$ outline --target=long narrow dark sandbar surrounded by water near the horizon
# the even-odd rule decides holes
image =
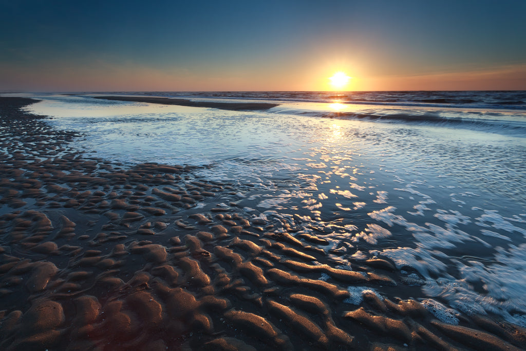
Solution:
[[[262,111],[278,104],[270,103],[217,103],[217,102],[203,102],[190,101],[187,99],[173,99],[168,97],[143,97],[143,96],[94,96],[97,99],[115,100],[115,101],[130,101],[137,103],[163,104],[163,105],[179,105],[190,107],[208,107],[228,109],[231,111]]]

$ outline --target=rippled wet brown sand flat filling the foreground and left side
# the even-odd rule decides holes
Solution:
[[[81,135],[20,110],[33,102],[0,98],[0,349],[526,345],[525,329],[497,318],[450,325],[416,300],[378,297],[418,287],[386,259],[333,267],[325,239],[223,204],[236,189],[197,167],[87,157],[69,145]]]

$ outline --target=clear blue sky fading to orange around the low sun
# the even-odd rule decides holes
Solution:
[[[525,0],[0,0],[0,92],[526,89]]]

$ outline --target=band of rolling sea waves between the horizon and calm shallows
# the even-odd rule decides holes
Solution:
[[[101,94],[101,93],[99,93]],[[113,92],[113,95],[163,96],[214,102],[267,101],[280,104],[270,113],[411,123],[466,128],[485,133],[526,137],[526,92]],[[301,103],[355,104],[356,112]],[[300,104],[290,104],[299,102]],[[368,106],[365,106],[368,105]],[[377,107],[373,107],[377,106]],[[406,108],[407,107],[407,108]],[[415,108],[417,107],[417,108]],[[422,108],[419,108],[422,107]],[[351,107],[352,108],[352,107]],[[432,110],[430,109],[432,108]],[[486,111],[483,110],[486,109]],[[398,112],[396,110],[399,110]],[[504,110],[504,111],[501,111]],[[506,112],[511,110],[513,112]]]

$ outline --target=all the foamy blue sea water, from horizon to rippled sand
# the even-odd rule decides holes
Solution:
[[[391,259],[406,288],[375,294],[419,298],[449,323],[477,313],[526,326],[526,93],[135,94],[279,106],[47,94],[29,109],[82,132],[77,147],[96,157],[206,166],[196,176],[230,183],[247,214],[327,239],[334,266]]]

